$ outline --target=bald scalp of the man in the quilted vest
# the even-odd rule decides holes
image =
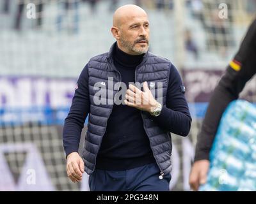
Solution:
[[[113,26],[120,27],[122,24],[127,22],[129,18],[146,16],[147,13],[140,6],[134,4],[127,4],[119,7],[113,15]]]

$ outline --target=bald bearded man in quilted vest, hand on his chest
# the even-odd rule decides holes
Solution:
[[[86,171],[91,191],[169,191],[171,132],[186,136],[191,125],[185,87],[168,59],[148,52],[142,8],[118,8],[111,33],[116,42],[84,67],[65,119],[67,175],[79,182]]]

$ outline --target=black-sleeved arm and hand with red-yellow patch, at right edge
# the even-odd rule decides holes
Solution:
[[[225,74],[214,89],[196,142],[195,161],[189,184],[194,191],[207,181],[209,152],[214,142],[222,113],[227,105],[239,97],[244,85],[256,73],[256,20],[248,29],[241,46]]]

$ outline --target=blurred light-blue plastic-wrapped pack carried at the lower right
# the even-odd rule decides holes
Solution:
[[[232,101],[221,117],[199,191],[256,191],[256,106]]]

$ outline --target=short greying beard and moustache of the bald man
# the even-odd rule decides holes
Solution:
[[[136,44],[141,40],[147,41],[147,45],[145,47],[139,47],[139,48],[135,47]],[[121,37],[120,38],[120,43],[122,44],[123,47],[126,47],[128,50],[131,50],[131,51],[135,52],[138,55],[145,54],[146,52],[148,52],[148,40],[146,38],[139,38],[138,40],[131,43],[130,41]]]

